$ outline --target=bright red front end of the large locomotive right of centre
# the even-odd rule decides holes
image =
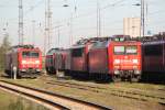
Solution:
[[[113,79],[141,79],[141,43],[124,42],[113,46]]]

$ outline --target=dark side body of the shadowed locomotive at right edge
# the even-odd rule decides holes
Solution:
[[[164,64],[164,44],[144,44],[143,45],[143,70],[148,73],[165,70]]]

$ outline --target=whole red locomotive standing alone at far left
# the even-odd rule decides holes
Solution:
[[[42,72],[42,53],[33,45],[16,45],[6,54],[4,70],[13,76],[13,67],[20,77],[37,77]]]

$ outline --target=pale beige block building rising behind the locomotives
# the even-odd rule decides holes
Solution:
[[[141,19],[140,18],[124,18],[123,19],[123,34],[131,37],[141,36]]]

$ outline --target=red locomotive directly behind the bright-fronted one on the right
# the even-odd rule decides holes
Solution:
[[[70,48],[70,72],[74,76],[88,78],[89,52],[97,41],[105,41],[108,37],[92,37],[78,41]],[[76,75],[75,75],[76,74]]]

